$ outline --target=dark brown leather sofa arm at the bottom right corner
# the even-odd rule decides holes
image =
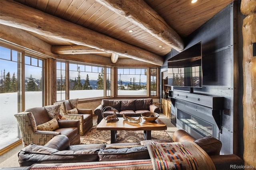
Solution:
[[[210,156],[216,170],[239,169],[243,170],[244,161],[235,154]]]

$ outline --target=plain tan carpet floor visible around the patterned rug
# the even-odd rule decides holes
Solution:
[[[166,117],[164,114],[160,113],[159,119],[164,122],[167,126],[166,132],[172,137],[173,133],[177,130],[177,128],[172,125],[170,119]],[[97,117],[93,117],[93,123],[96,124]],[[18,152],[22,149],[22,144],[17,147],[9,150],[0,156],[0,168],[8,168],[8,167],[17,167],[20,166],[18,163]]]

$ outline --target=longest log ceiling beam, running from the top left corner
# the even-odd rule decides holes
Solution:
[[[72,24],[14,1],[0,0],[0,24],[116,53],[139,61],[163,65],[164,59],[144,49]]]

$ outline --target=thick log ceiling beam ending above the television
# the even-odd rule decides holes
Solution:
[[[139,26],[177,51],[184,49],[182,38],[144,0],[96,0]],[[171,16],[170,16],[171,17]]]

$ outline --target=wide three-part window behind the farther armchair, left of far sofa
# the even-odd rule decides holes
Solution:
[[[112,95],[110,67],[57,61],[56,68],[57,101],[66,99],[66,96],[69,96],[69,99],[86,99]],[[66,75],[69,79],[66,79]],[[69,95],[66,95],[67,87]]]

